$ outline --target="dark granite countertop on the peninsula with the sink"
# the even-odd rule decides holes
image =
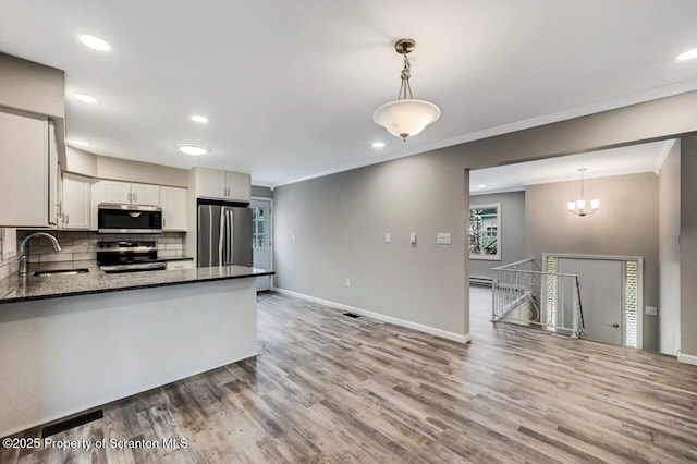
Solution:
[[[29,277],[28,279],[19,279],[14,274],[0,280],[0,304],[216,280],[245,279],[276,273],[245,266],[220,266],[107,274],[94,265],[81,266],[80,264],[81,261],[75,261],[72,267],[75,269],[88,268],[89,272],[75,276]],[[64,264],[61,268],[69,269],[71,266]]]

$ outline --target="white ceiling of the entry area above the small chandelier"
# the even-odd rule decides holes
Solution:
[[[590,151],[537,161],[476,169],[469,172],[469,193],[481,195],[525,190],[526,185],[578,181],[579,168],[586,179],[636,174],[660,170],[675,141]]]

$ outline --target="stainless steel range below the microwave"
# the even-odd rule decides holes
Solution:
[[[157,257],[157,242],[99,242],[97,264],[106,273],[164,270]]]

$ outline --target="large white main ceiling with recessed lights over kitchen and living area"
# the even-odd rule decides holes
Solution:
[[[695,0],[0,0],[0,51],[65,70],[68,136],[90,151],[279,185],[697,89],[697,60],[674,60],[695,17]],[[405,143],[371,119],[401,37],[414,97],[442,109]]]

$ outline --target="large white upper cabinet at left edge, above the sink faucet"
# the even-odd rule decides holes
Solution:
[[[48,120],[0,112],[0,227],[56,227],[49,138]]]

